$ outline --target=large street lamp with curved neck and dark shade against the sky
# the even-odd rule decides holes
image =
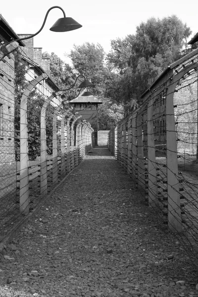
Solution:
[[[23,37],[23,38],[18,38],[18,39],[15,39],[15,40],[11,40],[10,42],[6,43],[5,45],[4,45],[4,43],[1,43],[0,59],[2,59],[4,56],[8,55],[9,53],[14,51],[15,49],[18,49],[18,47],[19,47],[18,42],[19,41],[30,39],[30,38],[36,36],[37,34],[39,34],[41,32],[41,30],[43,29],[45,23],[46,23],[49,11],[51,9],[53,9],[53,8],[59,8],[60,10],[62,10],[64,17],[59,18],[53,24],[53,26],[49,29],[50,31],[53,31],[53,32],[66,32],[66,31],[76,30],[76,29],[79,29],[79,28],[82,27],[82,25],[79,24],[77,21],[75,21],[72,17],[66,17],[64,10],[60,6],[52,6],[52,7],[50,7],[48,9],[48,11],[46,13],[46,16],[45,16],[45,19],[44,19],[44,22],[43,22],[43,25],[41,26],[41,29],[37,33],[32,34],[32,35],[30,35],[28,37]]]

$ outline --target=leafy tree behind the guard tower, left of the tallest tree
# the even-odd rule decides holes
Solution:
[[[88,42],[82,46],[74,45],[69,57],[74,71],[91,80],[95,85],[92,89],[94,95],[103,102],[98,109],[99,129],[111,129],[123,117],[123,109],[120,103],[117,104],[120,87],[118,74],[106,61],[103,48]]]

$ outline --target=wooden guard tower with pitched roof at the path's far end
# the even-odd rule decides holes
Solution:
[[[91,92],[90,92],[91,93]],[[85,93],[84,93],[85,94]],[[78,96],[76,99],[69,101],[73,105],[74,111],[78,111],[82,117],[88,121],[94,129],[94,144],[98,145],[98,106],[102,101],[97,99],[94,95]],[[93,144],[93,145],[94,145]]]

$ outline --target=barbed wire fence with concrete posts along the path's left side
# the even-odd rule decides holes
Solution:
[[[48,75],[28,75],[17,106],[14,56],[0,61],[0,241],[92,147],[90,123],[49,90]]]

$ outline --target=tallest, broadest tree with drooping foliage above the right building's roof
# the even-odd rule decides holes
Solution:
[[[132,111],[134,102],[140,103],[140,96],[157,76],[184,54],[190,34],[190,28],[172,15],[150,18],[137,27],[135,35],[111,41],[107,58],[119,73],[126,113]]]

